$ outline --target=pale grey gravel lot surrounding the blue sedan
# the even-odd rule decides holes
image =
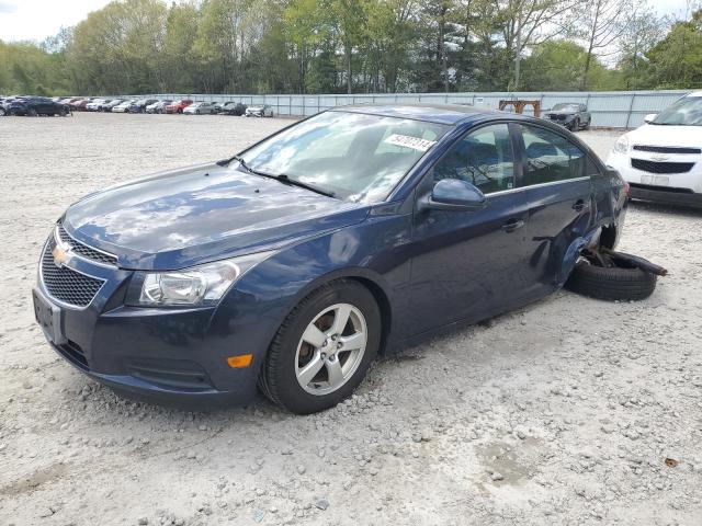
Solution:
[[[557,293],[378,363],[324,414],[126,402],[49,350],[30,290],[66,206],[285,124],[0,118],[0,525],[701,524],[698,213],[630,207],[621,248],[670,268],[648,300]],[[618,134],[580,135],[605,155]]]

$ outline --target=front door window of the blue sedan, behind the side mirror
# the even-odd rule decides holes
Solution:
[[[507,124],[479,128],[453,145],[433,168],[434,181],[462,179],[485,194],[514,187],[514,155]]]

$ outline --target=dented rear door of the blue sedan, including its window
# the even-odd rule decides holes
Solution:
[[[565,135],[539,125],[519,125],[525,197],[529,202],[529,272],[534,297],[553,289],[574,241],[591,222],[592,185],[587,155]]]

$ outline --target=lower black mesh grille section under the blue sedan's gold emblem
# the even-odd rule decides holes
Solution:
[[[105,282],[66,266],[57,266],[52,255],[53,248],[54,243],[46,243],[42,254],[42,282],[46,291],[64,304],[87,307]]]

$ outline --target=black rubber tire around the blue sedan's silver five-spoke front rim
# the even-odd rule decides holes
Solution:
[[[297,345],[312,320],[325,308],[339,302],[350,304],[363,313],[367,330],[365,353],[346,384],[327,395],[313,395],[302,388],[295,376]],[[381,324],[377,302],[360,283],[339,279],[316,289],[293,309],[278,330],[261,368],[259,388],[273,403],[297,414],[316,413],[336,405],[351,396],[375,359],[381,344]]]

